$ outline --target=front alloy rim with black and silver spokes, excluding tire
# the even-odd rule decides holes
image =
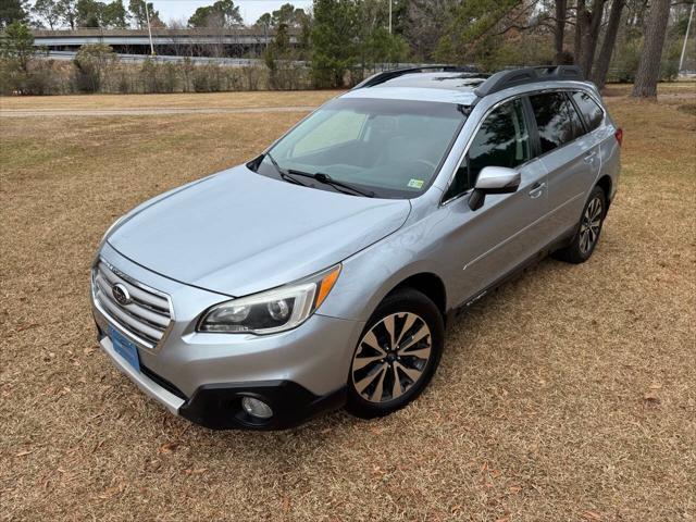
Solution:
[[[357,393],[375,403],[398,399],[423,375],[432,353],[427,323],[415,313],[399,312],[377,322],[362,337],[351,376]]]

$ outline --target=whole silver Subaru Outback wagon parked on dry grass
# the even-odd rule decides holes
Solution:
[[[592,256],[621,140],[575,67],[377,74],[116,221],[99,343],[212,428],[385,415],[431,381],[455,311],[545,253]]]

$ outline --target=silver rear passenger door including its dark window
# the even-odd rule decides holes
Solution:
[[[574,104],[564,91],[530,95],[538,130],[540,159],[548,171],[549,240],[574,227],[588,190],[597,177],[597,142],[585,132]]]

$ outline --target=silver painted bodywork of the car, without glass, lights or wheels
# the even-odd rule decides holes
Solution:
[[[513,194],[487,196],[476,211],[468,206],[469,191],[445,201],[482,120],[501,102],[543,90],[591,94],[605,110],[602,125],[521,165]],[[600,177],[611,178],[610,199],[616,192],[617,127],[592,84],[545,82],[482,99],[471,91],[388,86],[343,96],[476,103],[436,178],[413,199],[299,187],[240,165],[134,209],[100,247],[107,262],[170,296],[175,319],[165,339],[139,353],[148,369],[185,394],[207,383],[272,380],[328,394],[345,385],[365,322],[405,279],[436,276],[446,290],[446,309],[455,309],[573,234]],[[331,294],[295,330],[265,336],[196,332],[201,314],[231,296],[288,284],[339,262]],[[109,320],[94,311],[105,327]],[[104,350],[113,358],[108,346]],[[145,382],[138,385],[157,396],[157,386],[139,378]],[[160,398],[172,409],[170,399]]]

